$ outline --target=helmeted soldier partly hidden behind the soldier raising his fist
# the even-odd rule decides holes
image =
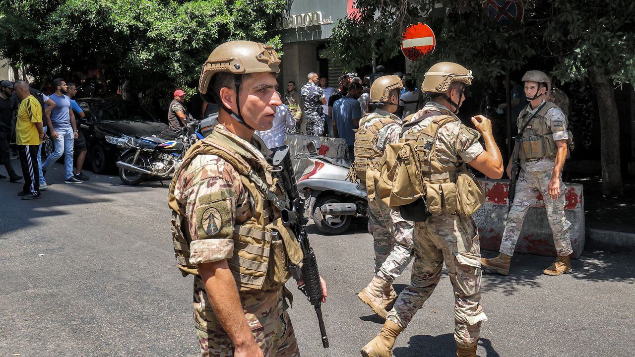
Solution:
[[[377,164],[386,145],[399,142],[401,134],[401,118],[392,114],[399,109],[401,87],[398,76],[382,76],[373,82],[370,105],[376,109],[359,122],[351,166],[352,178],[368,192],[368,231],[375,248],[375,275],[358,297],[384,319],[397,298],[392,281],[408,266],[412,251],[412,222],[375,196]]]

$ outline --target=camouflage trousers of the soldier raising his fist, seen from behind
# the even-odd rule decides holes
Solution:
[[[478,343],[481,321],[487,316],[481,307],[481,246],[474,220],[458,215],[431,217],[415,222],[415,262],[410,285],[388,313],[387,320],[405,328],[441,278],[445,261],[454,290],[454,339],[457,346]]]

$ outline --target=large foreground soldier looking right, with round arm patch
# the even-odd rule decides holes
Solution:
[[[231,41],[212,51],[199,91],[217,102],[218,119],[170,185],[175,254],[182,274],[194,274],[203,357],[300,356],[284,283],[302,250],[280,223],[284,193],[266,160],[271,152],[254,135],[271,128],[281,103],[279,64],[262,43]]]

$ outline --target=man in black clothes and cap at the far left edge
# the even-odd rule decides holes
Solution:
[[[0,158],[11,182],[18,182],[22,179],[22,176],[15,173],[13,166],[11,166],[11,149],[9,148],[13,116],[17,109],[18,101],[13,95],[13,83],[10,81],[0,82]],[[6,176],[0,174],[0,179],[6,179]]]

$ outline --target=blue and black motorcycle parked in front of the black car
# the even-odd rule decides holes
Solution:
[[[125,137],[124,147],[119,156],[117,167],[119,179],[124,185],[138,185],[146,177],[170,177],[187,149],[195,142],[203,139],[199,130],[199,121],[190,120],[175,138],[157,137]]]

